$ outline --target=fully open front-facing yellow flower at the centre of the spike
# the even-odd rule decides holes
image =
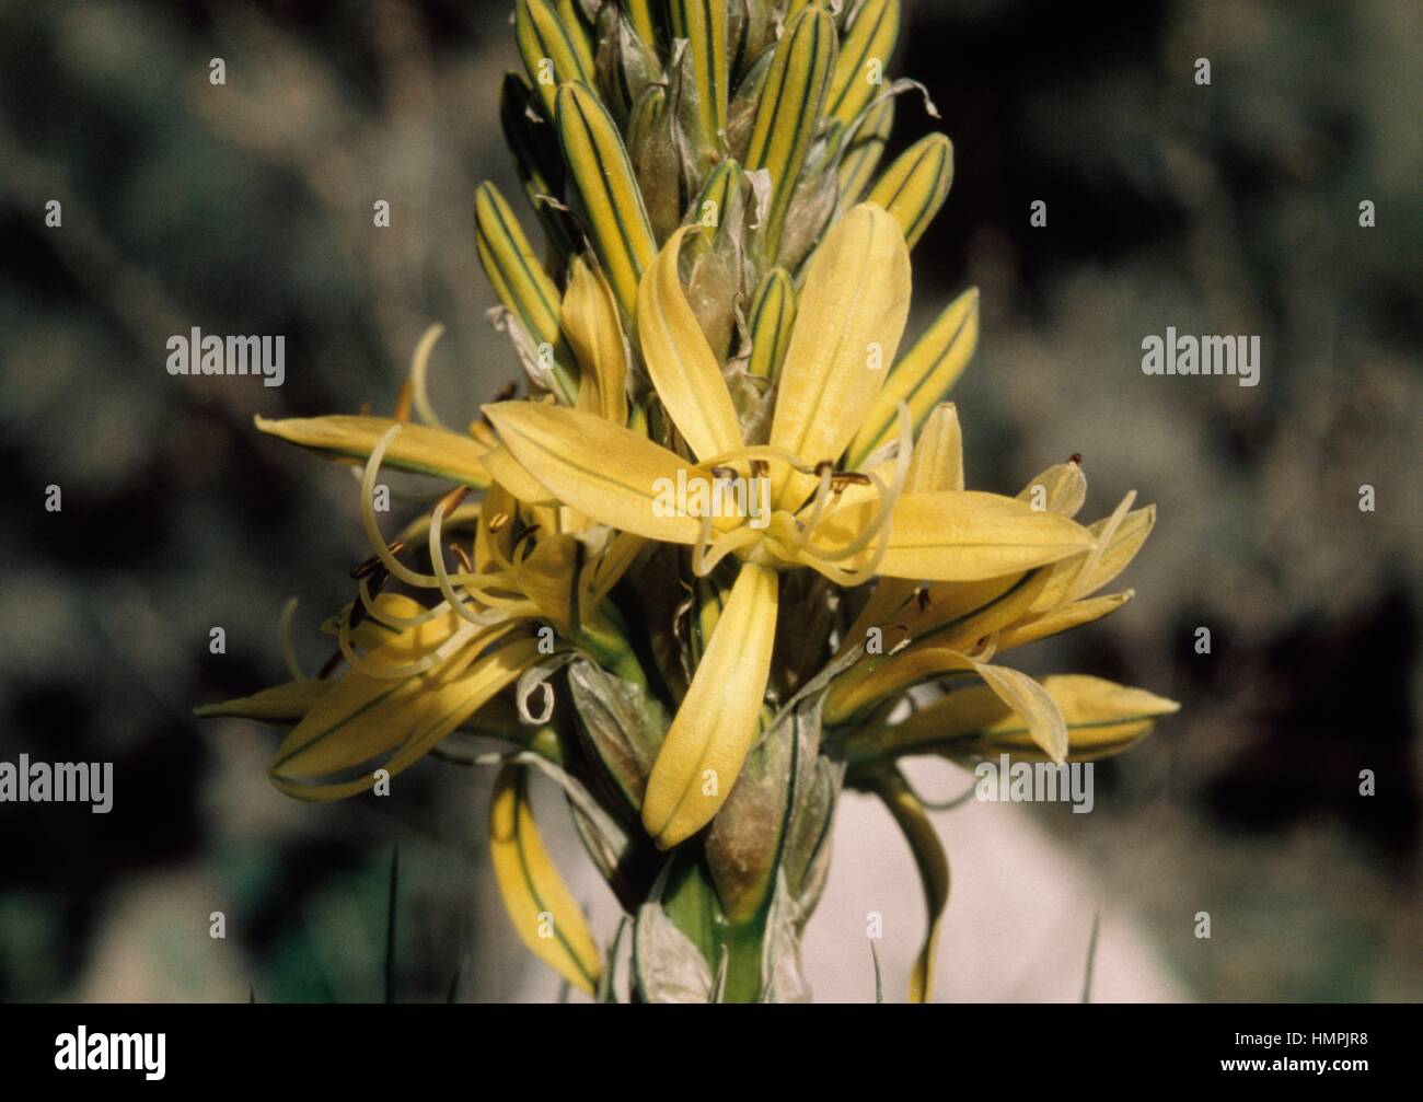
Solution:
[[[854,208],[813,256],[764,444],[743,437],[721,367],[682,290],[677,262],[689,232],[672,235],[643,274],[636,336],[657,397],[694,459],[591,412],[538,402],[485,407],[508,458],[527,474],[509,479],[519,482],[511,485],[517,495],[551,496],[620,532],[690,546],[700,576],[727,556],[740,559],[647,781],[643,825],[662,847],[716,815],[756,738],[781,572],[808,567],[840,586],[877,574],[979,582],[1096,545],[1069,518],[1013,498],[911,491],[912,428],[904,408],[896,448],[838,469],[877,410],[884,365],[894,363],[909,307],[908,247],[885,210]],[[751,489],[723,493],[729,481]],[[667,486],[687,488],[686,502],[696,505],[669,509]],[[719,512],[713,503],[727,498],[767,508]]]

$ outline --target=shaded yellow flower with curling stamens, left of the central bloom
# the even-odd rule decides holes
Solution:
[[[379,425],[374,418],[317,418],[276,427],[290,439],[326,449],[332,421]],[[265,428],[270,431],[270,422]],[[364,441],[370,428],[360,425],[360,431]],[[427,466],[425,456],[411,445],[401,448],[401,438],[414,435],[423,442],[421,434],[434,432],[387,422],[367,445],[361,518],[374,555],[354,572],[357,600],[327,626],[347,663],[346,671],[332,680],[296,678],[201,712],[295,722],[269,769],[273,783],[287,795],[340,799],[370,789],[381,772],[394,776],[417,762],[552,653],[552,636],[535,636],[539,624],[603,661],[616,664],[622,658],[623,647],[610,637],[599,607],[636,556],[638,539],[613,539],[606,529],[588,535],[561,532],[552,516],[544,518],[546,525],[521,522],[518,502],[498,483],[490,483],[472,545],[468,550],[453,545],[464,570],[448,570],[441,545],[445,522],[464,489],[445,495],[428,520],[407,529],[396,545],[387,543],[371,503],[381,464],[398,451],[406,465]],[[458,476],[445,468],[451,456],[460,455],[461,438],[438,435],[441,448],[431,448],[431,454],[445,456],[441,474]],[[353,444],[351,452],[359,451]],[[462,474],[471,481],[477,476],[474,468]],[[414,570],[398,557],[416,533],[428,545],[431,573]],[[427,606],[379,592],[391,577],[438,594],[438,603]]]

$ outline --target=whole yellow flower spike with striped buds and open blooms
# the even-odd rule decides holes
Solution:
[[[568,793],[633,923],[630,997],[795,1000],[845,786],[881,796],[929,902],[948,866],[896,762],[1094,758],[1175,705],[1003,656],[1100,619],[1153,510],[1080,525],[1079,462],[965,489],[945,394],[978,294],[912,341],[942,135],[892,164],[899,0],[518,0],[501,119],[546,250],[492,183],[475,246],[528,377],[467,432],[430,408],[258,421],[361,468],[371,557],[326,675],[205,710],[289,725],[273,782],[334,799],[455,732],[498,739],[492,862],[529,948],[612,998],[532,819]],[[932,105],[929,105],[932,112]],[[451,483],[388,537],[396,468]],[[477,501],[465,501],[474,493]],[[938,687],[939,691],[933,691]],[[928,692],[928,695],[926,695]],[[616,948],[616,947],[615,947]]]

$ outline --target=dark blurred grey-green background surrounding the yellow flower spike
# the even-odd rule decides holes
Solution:
[[[107,816],[0,803],[0,998],[381,998],[397,847],[397,1000],[556,997],[485,870],[487,776],[427,761],[398,798],[307,806],[266,782],[273,732],[191,718],[285,680],[287,597],[319,664],[366,555],[349,472],[252,415],[388,410],[431,321],[451,424],[518,371],[471,225],[478,181],[518,191],[509,7],[0,0],[0,761],[115,764]],[[1420,13],[906,3],[892,71],[943,118],[904,100],[895,145],[936,125],[956,151],[915,316],[982,289],[969,482],[1015,493],[1079,452],[1090,516],[1133,488],[1160,509],[1137,600],[1026,668],[1184,704],[1099,766],[1093,815],[938,816],[942,997],[1076,998],[1100,910],[1103,998],[1423,1000]],[[192,326],[285,334],[286,384],[168,375]],[[1258,334],[1261,384],[1143,375],[1167,326]],[[878,909],[898,997],[912,863],[854,798],[838,845],[811,981],[872,997]]]

